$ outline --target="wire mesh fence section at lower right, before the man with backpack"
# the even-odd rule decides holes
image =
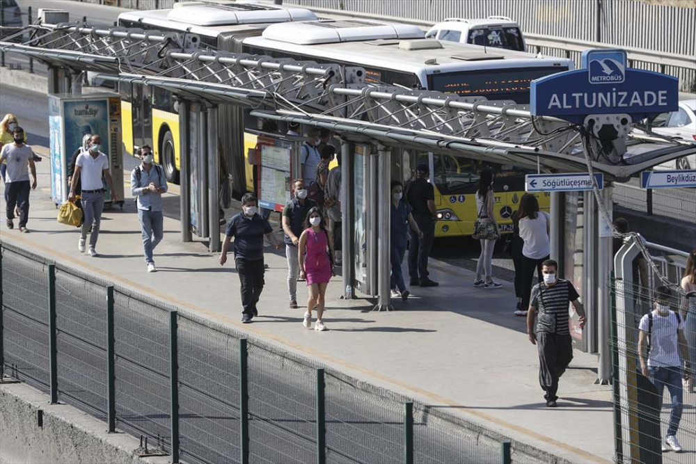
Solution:
[[[693,463],[696,392],[685,374],[696,361],[696,297],[649,282],[610,281],[615,461]]]

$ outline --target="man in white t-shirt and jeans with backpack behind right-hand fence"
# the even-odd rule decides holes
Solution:
[[[670,310],[672,290],[669,287],[655,289],[655,309],[640,319],[638,353],[640,371],[650,379],[657,389],[659,407],[653,411],[654,420],[660,423],[662,396],[667,387],[672,398],[672,413],[667,436],[662,445],[663,451],[681,451],[677,440],[677,430],[683,410],[683,385],[681,379],[689,378],[691,363],[688,344],[683,332],[683,320],[677,312]],[[681,362],[686,369],[682,371]],[[652,409],[652,408],[650,408]]]

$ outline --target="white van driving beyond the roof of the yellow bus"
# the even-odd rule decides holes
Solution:
[[[525,44],[519,24],[507,16],[489,16],[488,19],[450,17],[432,26],[425,37],[485,47],[527,51],[527,44]]]

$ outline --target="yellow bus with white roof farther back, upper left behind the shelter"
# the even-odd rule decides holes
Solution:
[[[239,53],[242,38],[259,35],[269,24],[312,19],[317,17],[304,8],[232,1],[182,2],[166,10],[122,13],[118,25],[145,31],[190,32],[200,37],[203,48]],[[168,181],[178,182],[180,129],[173,94],[129,83],[120,83],[119,92],[125,151],[134,154],[137,148],[150,145]],[[232,194],[239,198],[244,192],[253,190],[252,170],[246,153],[249,147],[255,147],[256,136],[244,134],[244,115],[239,107],[220,105],[218,118],[221,157],[232,175]]]

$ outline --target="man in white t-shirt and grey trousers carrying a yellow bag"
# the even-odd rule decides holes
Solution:
[[[92,233],[89,237],[89,255],[91,257],[99,256],[96,251],[97,239],[99,238],[99,227],[102,223],[102,211],[104,210],[104,184],[102,184],[102,175],[106,179],[106,184],[111,189],[111,201],[116,201],[116,193],[113,190],[113,181],[109,173],[109,157],[100,152],[102,147],[102,138],[97,134],[93,135],[89,141],[89,150],[82,152],[77,157],[75,163],[75,172],[72,175],[70,182],[70,196],[68,199],[74,201],[75,186],[77,179],[81,179],[82,193],[82,209],[84,210],[84,223],[80,232],[80,239],[77,249],[80,253],[84,253],[85,241],[87,239],[87,231],[90,226]]]

